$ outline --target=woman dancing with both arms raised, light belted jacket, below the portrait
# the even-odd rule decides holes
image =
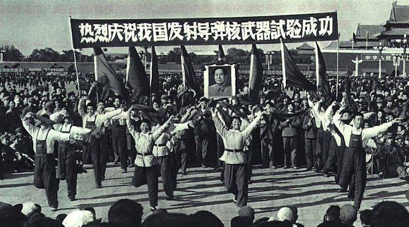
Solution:
[[[240,131],[240,117],[232,117],[232,129],[225,127],[218,116],[218,111],[210,109],[213,121],[224,143],[224,153],[220,160],[224,162],[224,187],[234,194],[233,201],[238,207],[247,205],[248,197],[248,178],[247,178],[247,159],[244,152],[246,139],[265,112],[256,113],[257,117],[247,126],[246,129]]]

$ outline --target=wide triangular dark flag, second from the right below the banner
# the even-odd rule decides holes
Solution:
[[[316,91],[316,86],[309,82],[294,62],[287,47],[281,41],[281,63],[283,67],[283,85],[305,88],[307,91]]]

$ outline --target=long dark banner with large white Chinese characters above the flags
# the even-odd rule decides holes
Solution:
[[[75,48],[327,41],[336,12],[231,18],[71,19]]]

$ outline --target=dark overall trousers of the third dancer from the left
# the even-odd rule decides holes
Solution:
[[[88,146],[93,161],[95,183],[97,186],[101,186],[102,179],[105,179],[106,162],[108,159],[108,150],[104,139],[106,139],[104,135],[99,139],[92,136]]]

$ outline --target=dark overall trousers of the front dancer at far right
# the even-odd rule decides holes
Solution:
[[[355,190],[350,188],[351,194],[355,192],[354,207],[359,209],[363,197],[363,191],[367,183],[365,150],[352,150],[347,148],[344,154],[344,163],[341,175],[339,176],[339,185],[347,186],[351,180],[354,182]]]

